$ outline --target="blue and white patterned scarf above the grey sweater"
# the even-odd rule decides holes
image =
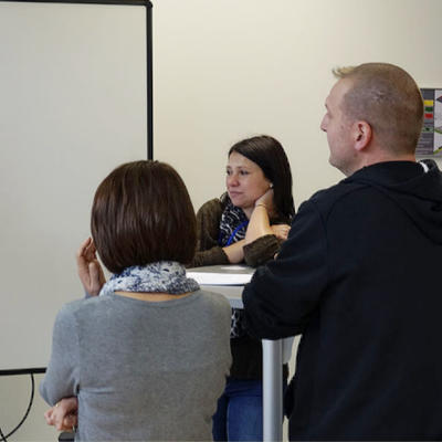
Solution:
[[[99,296],[114,292],[169,293],[179,295],[200,288],[197,281],[186,276],[186,267],[175,261],[134,265],[114,274],[103,285]]]

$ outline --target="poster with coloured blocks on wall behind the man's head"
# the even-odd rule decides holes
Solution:
[[[423,127],[415,150],[419,156],[442,157],[442,88],[421,88]]]

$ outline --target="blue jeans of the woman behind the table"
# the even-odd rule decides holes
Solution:
[[[214,441],[262,441],[262,381],[228,379],[213,415]]]

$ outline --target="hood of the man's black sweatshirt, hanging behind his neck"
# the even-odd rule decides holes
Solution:
[[[378,162],[343,182],[368,185],[385,193],[432,242],[442,244],[442,173],[433,160]],[[425,167],[427,166],[427,167]]]

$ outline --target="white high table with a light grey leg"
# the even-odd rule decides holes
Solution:
[[[241,294],[254,269],[245,265],[211,265],[188,270],[210,292],[224,295],[234,308],[243,308]],[[287,362],[293,338],[263,339],[263,439],[283,440],[283,362]]]

